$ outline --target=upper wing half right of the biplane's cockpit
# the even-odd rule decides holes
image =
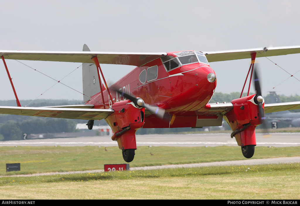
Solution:
[[[234,59],[249,59],[250,54],[256,53],[257,57],[270,57],[286,54],[300,53],[300,46],[288,47],[272,47],[272,48],[254,48],[254,49],[240,49],[240,50],[227,50],[227,51],[209,51],[203,52],[208,62],[227,61]]]

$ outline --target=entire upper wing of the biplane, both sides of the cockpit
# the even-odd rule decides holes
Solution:
[[[256,57],[298,54],[300,53],[300,46],[208,51],[203,53],[206,55],[208,62],[217,62],[234,59],[247,59],[250,58],[250,54],[252,53],[256,53]],[[94,63],[91,58],[97,57],[100,64],[122,64],[135,66],[142,66],[154,59],[166,55],[166,52],[0,51],[0,56],[4,56],[5,59]]]

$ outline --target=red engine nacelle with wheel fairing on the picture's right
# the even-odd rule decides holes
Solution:
[[[255,128],[262,123],[255,94],[232,100],[233,109],[224,115],[239,146],[256,145]],[[264,103],[262,103],[262,108]]]

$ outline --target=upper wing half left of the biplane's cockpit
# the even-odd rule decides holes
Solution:
[[[92,57],[97,57],[100,64],[122,64],[142,66],[167,53],[125,53],[125,52],[91,52],[91,51],[0,51],[4,59],[39,60],[55,62],[94,63]]]

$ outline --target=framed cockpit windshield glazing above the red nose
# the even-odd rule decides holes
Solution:
[[[202,62],[208,64],[208,61],[202,52],[181,51],[174,54],[177,57],[172,57],[172,56],[161,57],[161,61],[163,62],[167,71],[178,68],[181,65],[193,64],[196,62]]]

